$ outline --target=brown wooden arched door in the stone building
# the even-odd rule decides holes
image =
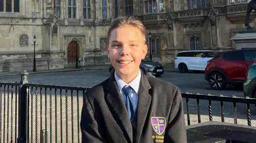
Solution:
[[[67,62],[71,66],[76,65],[76,68],[78,68],[79,49],[79,44],[75,40],[70,41],[68,44]]]

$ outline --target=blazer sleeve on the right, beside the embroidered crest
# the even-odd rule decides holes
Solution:
[[[183,102],[180,89],[177,88],[174,94],[169,122],[166,124],[164,143],[187,143],[187,132],[185,117],[183,113]]]

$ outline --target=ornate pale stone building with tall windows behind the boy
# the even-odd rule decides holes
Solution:
[[[0,0],[0,71],[109,64],[107,29],[132,14],[152,33],[153,60],[173,63],[179,51],[236,49],[249,0]],[[254,27],[255,15],[251,14]],[[76,56],[77,55],[77,56]],[[81,59],[81,61],[77,60]]]

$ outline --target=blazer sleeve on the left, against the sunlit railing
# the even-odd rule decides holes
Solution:
[[[82,143],[103,143],[105,142],[102,137],[101,123],[98,120],[97,114],[93,111],[93,108],[84,94],[83,107],[81,113],[81,133]]]

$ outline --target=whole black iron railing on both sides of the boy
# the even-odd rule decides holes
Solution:
[[[79,123],[87,88],[28,83],[27,75],[21,73],[20,83],[0,82],[0,142],[81,142]],[[246,104],[243,110],[247,124],[252,125],[250,104],[256,104],[256,99],[189,93],[182,93],[182,97],[188,125],[194,114],[198,123],[203,114],[213,121],[213,110],[216,112],[212,102],[220,104],[222,122],[225,122],[224,102],[231,103],[235,124],[237,104]],[[197,112],[191,113],[194,100]],[[201,104],[205,100],[207,109],[203,113]]]

